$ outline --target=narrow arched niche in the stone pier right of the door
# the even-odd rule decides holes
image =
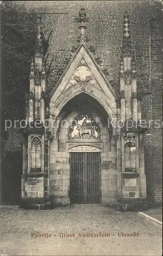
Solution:
[[[125,172],[135,173],[136,170],[136,143],[135,136],[125,138]]]

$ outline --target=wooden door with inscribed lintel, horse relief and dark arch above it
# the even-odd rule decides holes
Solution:
[[[66,109],[70,113],[70,126],[64,132],[69,153],[70,203],[100,204],[102,127],[107,124],[107,114],[85,93],[69,101]]]

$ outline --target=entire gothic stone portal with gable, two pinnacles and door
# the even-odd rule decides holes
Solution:
[[[80,44],[47,95],[38,19],[26,97],[22,199],[37,208],[70,202],[142,207],[147,204],[144,130],[128,15],[117,95],[85,43],[83,9],[76,21]]]

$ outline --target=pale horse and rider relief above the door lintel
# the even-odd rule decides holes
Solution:
[[[101,132],[98,124],[88,118],[87,115],[83,116],[80,120],[76,120],[75,125],[69,128],[68,139],[101,139]]]

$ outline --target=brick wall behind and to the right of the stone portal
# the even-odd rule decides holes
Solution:
[[[142,118],[161,119],[161,1],[17,1],[27,10],[42,15],[42,30],[49,37],[46,55],[48,91],[51,92],[78,46],[75,17],[84,7],[90,18],[86,24],[88,47],[95,48],[100,67],[115,93],[119,93],[120,53],[123,44],[124,13],[129,14],[132,54],[135,55],[137,90],[142,93]],[[151,21],[153,20],[153,21]],[[156,21],[154,21],[156,20]],[[151,27],[151,24],[153,27]],[[151,80],[150,80],[151,78]],[[161,130],[151,127],[145,134],[145,168],[148,198],[160,201]],[[157,189],[154,191],[154,187]],[[157,192],[158,191],[158,192]]]

